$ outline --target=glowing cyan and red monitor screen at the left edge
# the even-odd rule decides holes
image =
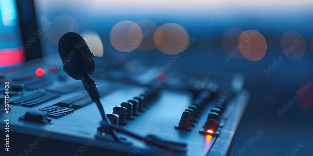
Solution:
[[[0,68],[25,60],[15,0],[0,0]]]

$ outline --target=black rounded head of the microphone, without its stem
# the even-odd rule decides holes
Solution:
[[[58,43],[63,70],[73,79],[95,71],[95,55],[90,52],[83,37],[75,32],[64,34]]]

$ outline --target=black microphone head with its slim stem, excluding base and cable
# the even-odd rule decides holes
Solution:
[[[63,70],[73,79],[81,80],[84,88],[100,111],[102,120],[111,124],[100,102],[100,93],[91,78],[95,71],[95,55],[90,51],[83,37],[75,32],[65,33],[59,40],[58,51]]]

